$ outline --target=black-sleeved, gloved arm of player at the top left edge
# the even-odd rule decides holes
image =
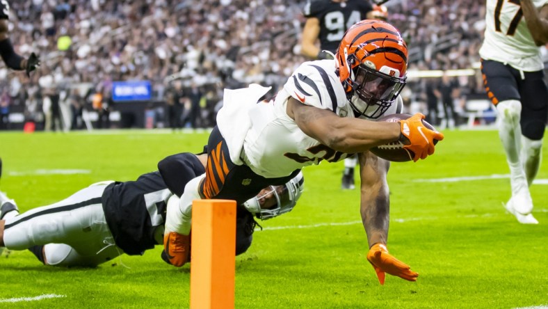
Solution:
[[[9,11],[8,1],[0,1],[0,56],[8,68],[17,71],[24,70],[26,75],[30,76],[31,72],[40,66],[40,58],[32,53],[28,59],[25,59],[13,50],[8,27]]]

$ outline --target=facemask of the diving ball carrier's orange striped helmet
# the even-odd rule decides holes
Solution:
[[[371,68],[367,62],[360,63],[351,70],[348,84],[352,92],[348,95],[348,101],[357,118],[364,116],[376,119],[392,106],[405,86],[406,78],[393,76],[396,72],[388,67],[383,67],[381,70],[389,74],[380,72],[374,68],[373,63]]]

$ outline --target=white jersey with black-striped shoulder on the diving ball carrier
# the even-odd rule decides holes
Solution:
[[[252,171],[264,177],[282,177],[304,166],[322,160],[339,161],[349,154],[328,148],[307,136],[287,116],[289,97],[319,109],[327,109],[339,117],[354,113],[337,74],[335,60],[305,62],[293,72],[275,100],[260,102],[250,109],[251,127],[245,135],[242,159]],[[398,99],[386,114],[401,111]]]

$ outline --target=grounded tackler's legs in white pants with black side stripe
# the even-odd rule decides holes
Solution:
[[[120,255],[102,208],[105,187],[88,187],[61,202],[7,219],[3,236],[6,248],[25,250],[45,245],[47,264],[63,266],[96,266]]]

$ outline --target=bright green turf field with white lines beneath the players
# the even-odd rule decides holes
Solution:
[[[134,180],[175,152],[200,152],[207,134],[0,134],[0,190],[19,208],[54,203],[101,180]],[[497,132],[449,131],[425,161],[392,164],[388,247],[420,276],[387,276],[365,259],[359,191],[341,191],[342,163],[305,168],[289,214],[260,222],[236,258],[236,308],[521,308],[548,306],[548,159],[531,193],[539,225],[505,212],[508,167]],[[545,143],[544,153],[547,154]],[[487,177],[481,177],[487,176]],[[458,177],[476,177],[467,180]],[[453,181],[428,182],[449,178]],[[0,308],[188,308],[190,265],[161,248],[97,269],[45,267],[28,251],[0,258]],[[62,296],[62,297],[61,297]]]

